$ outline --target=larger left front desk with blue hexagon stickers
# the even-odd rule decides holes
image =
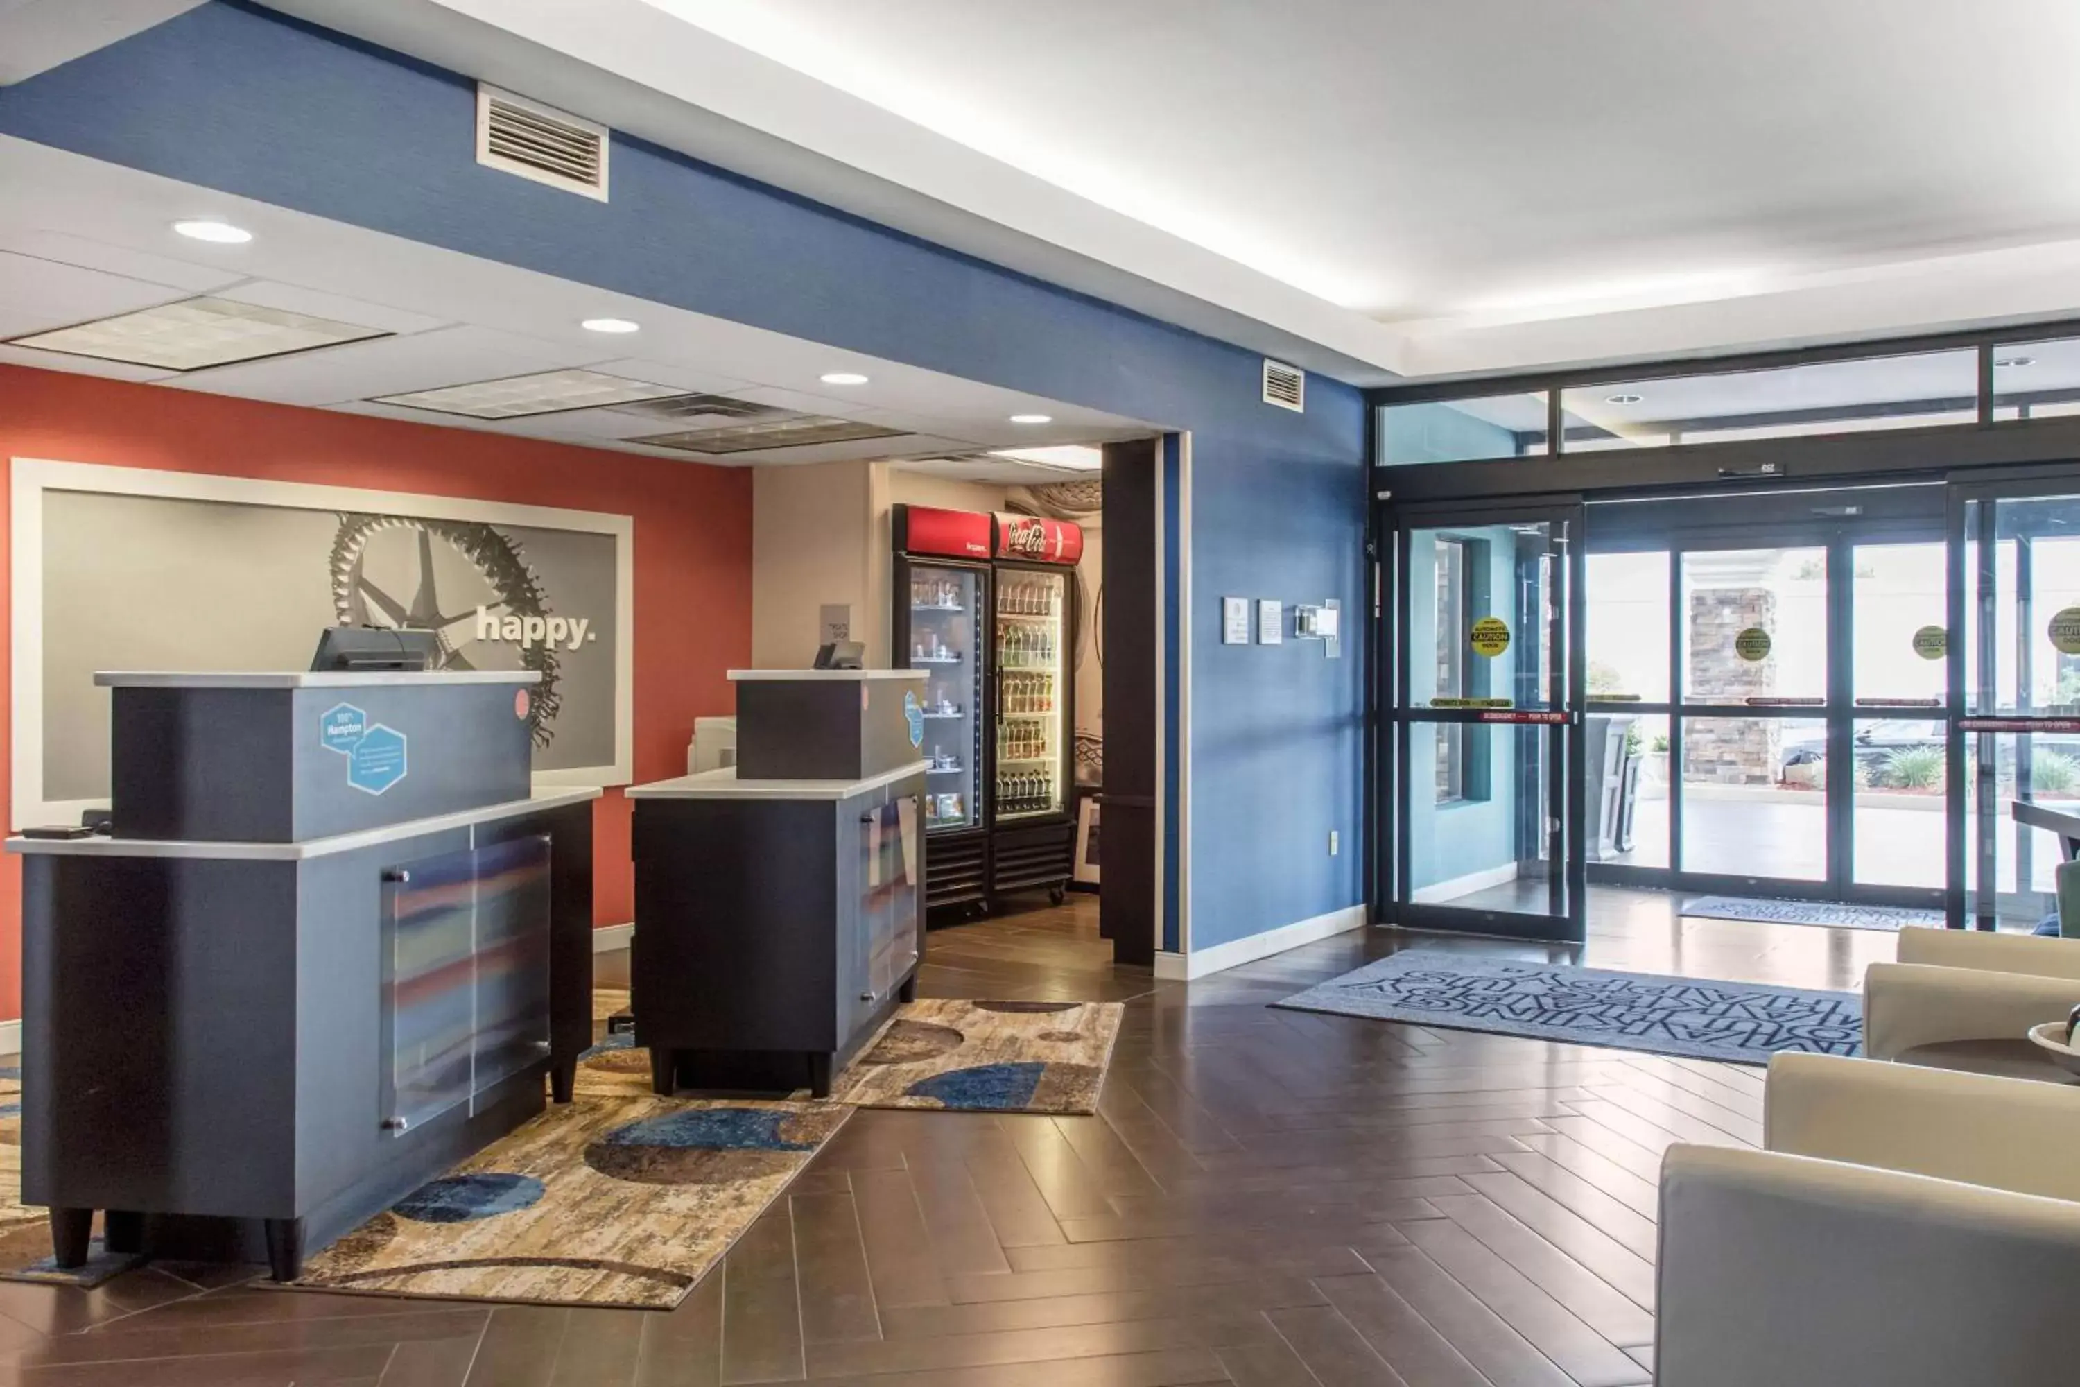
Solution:
[[[293,1279],[568,1100],[599,790],[528,792],[532,674],[98,678],[116,836],[8,840],[23,1202]]]

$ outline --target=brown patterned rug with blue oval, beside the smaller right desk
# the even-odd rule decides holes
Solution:
[[[919,1000],[832,1083],[861,1108],[1096,1113],[1119,1002]]]

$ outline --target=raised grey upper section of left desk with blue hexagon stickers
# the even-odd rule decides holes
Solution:
[[[516,692],[449,682],[119,686],[116,836],[297,842],[526,799],[532,742]],[[387,765],[327,742],[335,709],[376,734]]]

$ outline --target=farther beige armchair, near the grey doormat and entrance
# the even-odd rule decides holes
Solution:
[[[1864,971],[1864,1054],[1943,1040],[2020,1040],[2080,1004],[2080,940],[1901,930],[1899,963]]]

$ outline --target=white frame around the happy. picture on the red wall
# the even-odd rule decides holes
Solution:
[[[96,801],[44,799],[44,493],[85,491],[100,495],[218,501],[283,509],[370,512],[422,520],[464,520],[476,524],[535,526],[612,534],[614,545],[614,765],[582,765],[537,771],[537,786],[628,784],[634,763],[634,518],[603,512],[516,505],[470,497],[422,495],[416,491],[366,491],[281,482],[216,472],[160,472],[85,462],[15,457],[10,464],[12,514],[8,522],[12,616],[12,826],[77,821]],[[202,618],[206,620],[206,618]],[[316,643],[316,632],[312,632]]]

